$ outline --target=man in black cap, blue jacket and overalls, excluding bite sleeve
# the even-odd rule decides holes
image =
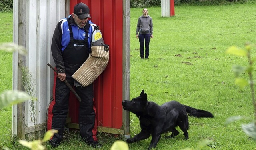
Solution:
[[[74,6],[74,12],[58,22],[52,38],[52,57],[58,73],[54,73],[53,101],[48,108],[47,129],[56,129],[49,144],[56,147],[63,140],[64,126],[68,114],[70,89],[63,82],[75,86],[81,98],[79,104],[79,128],[82,139],[93,147],[100,144],[96,138],[97,122],[93,100],[93,84],[81,86],[72,75],[86,61],[90,53],[92,32],[96,28],[88,18],[89,8],[84,3]]]

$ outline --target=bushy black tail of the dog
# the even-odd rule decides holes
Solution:
[[[196,118],[214,118],[213,114],[208,111],[196,109],[186,105],[183,106],[186,108],[188,116],[193,116]]]

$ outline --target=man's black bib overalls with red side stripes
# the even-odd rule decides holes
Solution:
[[[68,18],[67,20],[70,30],[70,43],[65,50],[63,50],[62,56],[66,70],[66,80],[71,86],[73,86],[74,79],[72,78],[72,74],[78,70],[78,68],[89,56],[88,30],[90,25],[87,22],[84,29],[78,28],[78,30],[85,30],[86,35],[84,40],[76,40],[73,37],[70,21]],[[54,75],[54,83],[53,101],[50,103],[48,109],[48,130],[58,130],[58,133],[54,134],[51,140],[56,141],[59,144],[63,139],[64,126],[68,114],[70,89],[64,82],[60,81],[56,73]],[[82,99],[82,102],[79,104],[79,128],[81,137],[86,142],[97,141],[97,124],[96,111],[93,101],[93,84],[86,87],[75,87],[75,90]]]

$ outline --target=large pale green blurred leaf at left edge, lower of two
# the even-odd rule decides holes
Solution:
[[[24,91],[6,90],[0,94],[0,109],[32,99]]]

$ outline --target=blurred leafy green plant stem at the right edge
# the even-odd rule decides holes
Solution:
[[[232,46],[228,48],[227,53],[233,54],[236,56],[244,56],[244,57],[247,57],[248,59],[248,66],[234,65],[232,69],[236,75],[236,80],[235,80],[236,85],[240,86],[240,88],[244,88],[245,86],[248,86],[248,85],[250,86],[252,104],[254,106],[254,119],[249,117],[244,117],[244,116],[235,116],[235,117],[228,118],[226,123],[228,124],[230,122],[234,122],[236,120],[241,120],[241,119],[250,120],[251,122],[249,124],[242,124],[242,130],[248,136],[256,140],[256,101],[255,101],[255,92],[254,92],[254,80],[252,76],[252,73],[254,70],[253,64],[256,61],[256,57],[252,58],[251,56],[253,47],[255,47],[255,45],[252,45],[249,43],[246,43],[244,49],[240,49],[236,46]],[[242,73],[248,74],[249,80],[241,78],[240,75]]]

